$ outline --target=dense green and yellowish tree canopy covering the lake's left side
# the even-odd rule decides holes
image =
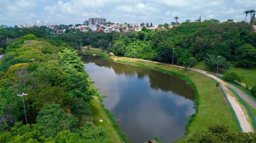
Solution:
[[[109,141],[91,122],[97,90],[69,45],[25,35],[7,46],[0,77],[0,143]]]

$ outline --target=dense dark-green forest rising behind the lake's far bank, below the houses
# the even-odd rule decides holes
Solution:
[[[234,61],[236,67],[256,65],[256,32],[252,25],[245,22],[187,22],[171,30],[149,30],[144,27],[138,32],[77,32],[57,35],[54,39],[82,46],[91,45],[118,56],[135,56],[166,63],[172,61],[174,52],[174,62],[178,65],[193,66],[193,61],[202,61],[211,55],[216,58],[220,55],[224,61]]]

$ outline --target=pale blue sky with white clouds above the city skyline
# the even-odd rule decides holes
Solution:
[[[191,20],[245,20],[256,0],[0,0],[0,25],[56,22],[82,24],[92,17],[107,22],[153,25]],[[249,16],[247,16],[249,21]]]

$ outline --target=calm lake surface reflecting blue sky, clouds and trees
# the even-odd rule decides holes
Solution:
[[[154,70],[80,55],[85,71],[135,143],[157,137],[165,143],[184,137],[188,116],[195,113],[191,85]]]

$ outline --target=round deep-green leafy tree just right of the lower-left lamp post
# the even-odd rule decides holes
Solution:
[[[39,111],[36,121],[43,127],[45,137],[55,137],[62,130],[76,130],[77,118],[64,113],[59,104],[45,104]]]

